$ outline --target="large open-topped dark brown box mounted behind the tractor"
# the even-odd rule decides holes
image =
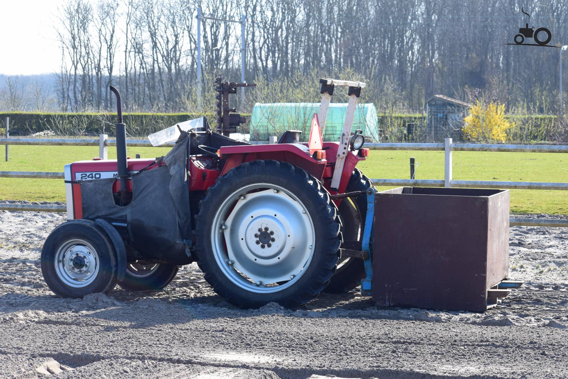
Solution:
[[[482,312],[496,303],[508,267],[508,190],[403,187],[375,194],[377,305]]]

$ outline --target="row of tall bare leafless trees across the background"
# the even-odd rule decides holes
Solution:
[[[463,97],[468,87],[497,88],[511,109],[559,109],[553,49],[503,43],[529,23],[549,28],[549,44],[559,45],[568,31],[562,13],[568,0],[528,6],[530,19],[519,0],[100,0],[94,11],[87,0],[65,0],[57,23],[60,108],[108,109],[106,88],[115,81],[126,109],[190,110],[198,6],[216,18],[202,22],[202,80],[239,77],[240,27],[224,19],[245,14],[248,81],[351,72],[376,88],[389,78],[402,107],[420,109],[437,93]],[[371,100],[379,105],[386,97],[377,91]]]

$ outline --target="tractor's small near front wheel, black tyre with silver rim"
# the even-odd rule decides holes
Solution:
[[[45,283],[61,297],[108,293],[117,280],[118,259],[111,239],[90,220],[56,227],[41,249]]]

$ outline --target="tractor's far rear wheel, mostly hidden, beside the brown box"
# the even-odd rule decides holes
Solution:
[[[354,169],[345,192],[364,191],[373,186],[373,183],[359,169]],[[339,215],[343,228],[344,241],[361,241],[367,214],[367,197],[359,195],[355,198],[345,198],[339,204]],[[325,288],[326,293],[344,293],[361,285],[365,277],[363,260],[348,257],[340,259],[337,263],[335,275]]]

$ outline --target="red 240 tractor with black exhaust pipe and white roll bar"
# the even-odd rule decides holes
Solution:
[[[252,145],[225,136],[243,122],[217,81],[215,132],[205,118],[149,136],[176,141],[157,159],[126,156],[126,131],[116,95],[117,160],[65,166],[68,221],[45,240],[41,270],[62,297],[158,290],[182,265],[197,261],[216,293],[240,307],[277,302],[296,308],[321,291],[340,293],[365,277],[361,240],[365,191],[360,170],[369,149],[351,133],[365,84],[322,79],[323,100],[309,143],[287,131],[277,144]],[[339,142],[322,142],[318,119],[333,90],[347,86],[349,104]],[[225,135],[224,135],[225,134]],[[348,198],[349,197],[349,198]]]

